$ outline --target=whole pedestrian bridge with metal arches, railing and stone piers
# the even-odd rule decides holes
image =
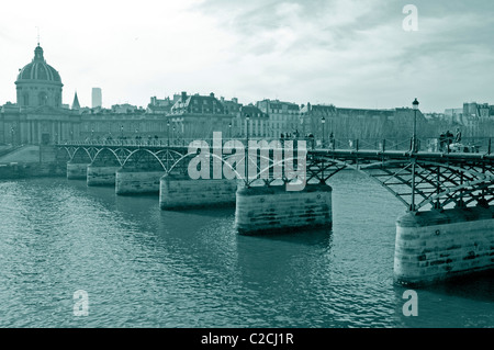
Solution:
[[[409,140],[243,142],[67,143],[55,148],[69,179],[114,185],[116,194],[155,192],[162,210],[235,205],[240,234],[330,229],[330,179],[352,169],[404,205],[396,221],[398,283],[436,282],[494,267],[490,140],[465,148],[474,153],[440,151],[430,140],[415,149]],[[201,176],[191,177],[191,169]],[[299,190],[289,190],[301,182]]]

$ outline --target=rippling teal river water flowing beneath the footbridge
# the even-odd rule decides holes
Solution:
[[[494,278],[393,284],[404,207],[344,171],[333,230],[240,236],[235,210],[166,212],[63,178],[0,182],[0,327],[494,327]],[[87,316],[75,315],[86,291]]]

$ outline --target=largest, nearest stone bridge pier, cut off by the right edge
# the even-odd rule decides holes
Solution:
[[[396,222],[394,280],[422,285],[494,268],[494,207],[407,213]]]

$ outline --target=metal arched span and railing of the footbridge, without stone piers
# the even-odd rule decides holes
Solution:
[[[225,142],[216,146],[224,150],[227,147]],[[406,143],[408,142],[402,142]],[[287,140],[278,143],[281,147],[269,144],[270,149],[265,154],[261,149],[251,153],[249,148],[239,155],[238,150],[217,153],[211,148],[207,155],[211,160],[210,174],[214,178],[214,161],[217,158],[222,167],[231,168],[247,185],[261,183],[269,187],[276,181],[299,181],[300,177],[293,179],[287,176],[287,169],[300,169],[302,166],[306,183],[327,183],[339,171],[355,169],[380,183],[412,212],[427,207],[440,210],[451,205],[487,207],[494,201],[494,156],[490,147],[484,153],[449,153],[411,151],[406,146],[405,149],[385,149],[385,140],[379,143],[379,149],[361,149],[358,142],[351,148],[336,148],[335,144],[337,145],[332,144],[333,147],[314,147],[314,144],[308,143],[304,161],[299,158],[301,149],[296,147],[296,142],[289,155]],[[214,146],[213,142],[205,145]],[[199,154],[197,150],[190,151],[186,142],[182,145],[71,143],[56,147],[59,161],[181,174],[187,174],[191,159]],[[282,154],[277,157],[279,150]],[[236,157],[235,161],[232,160],[233,157]],[[249,159],[247,167],[246,157]],[[273,176],[277,167],[281,167],[281,178]],[[248,176],[242,177],[247,171]]]

